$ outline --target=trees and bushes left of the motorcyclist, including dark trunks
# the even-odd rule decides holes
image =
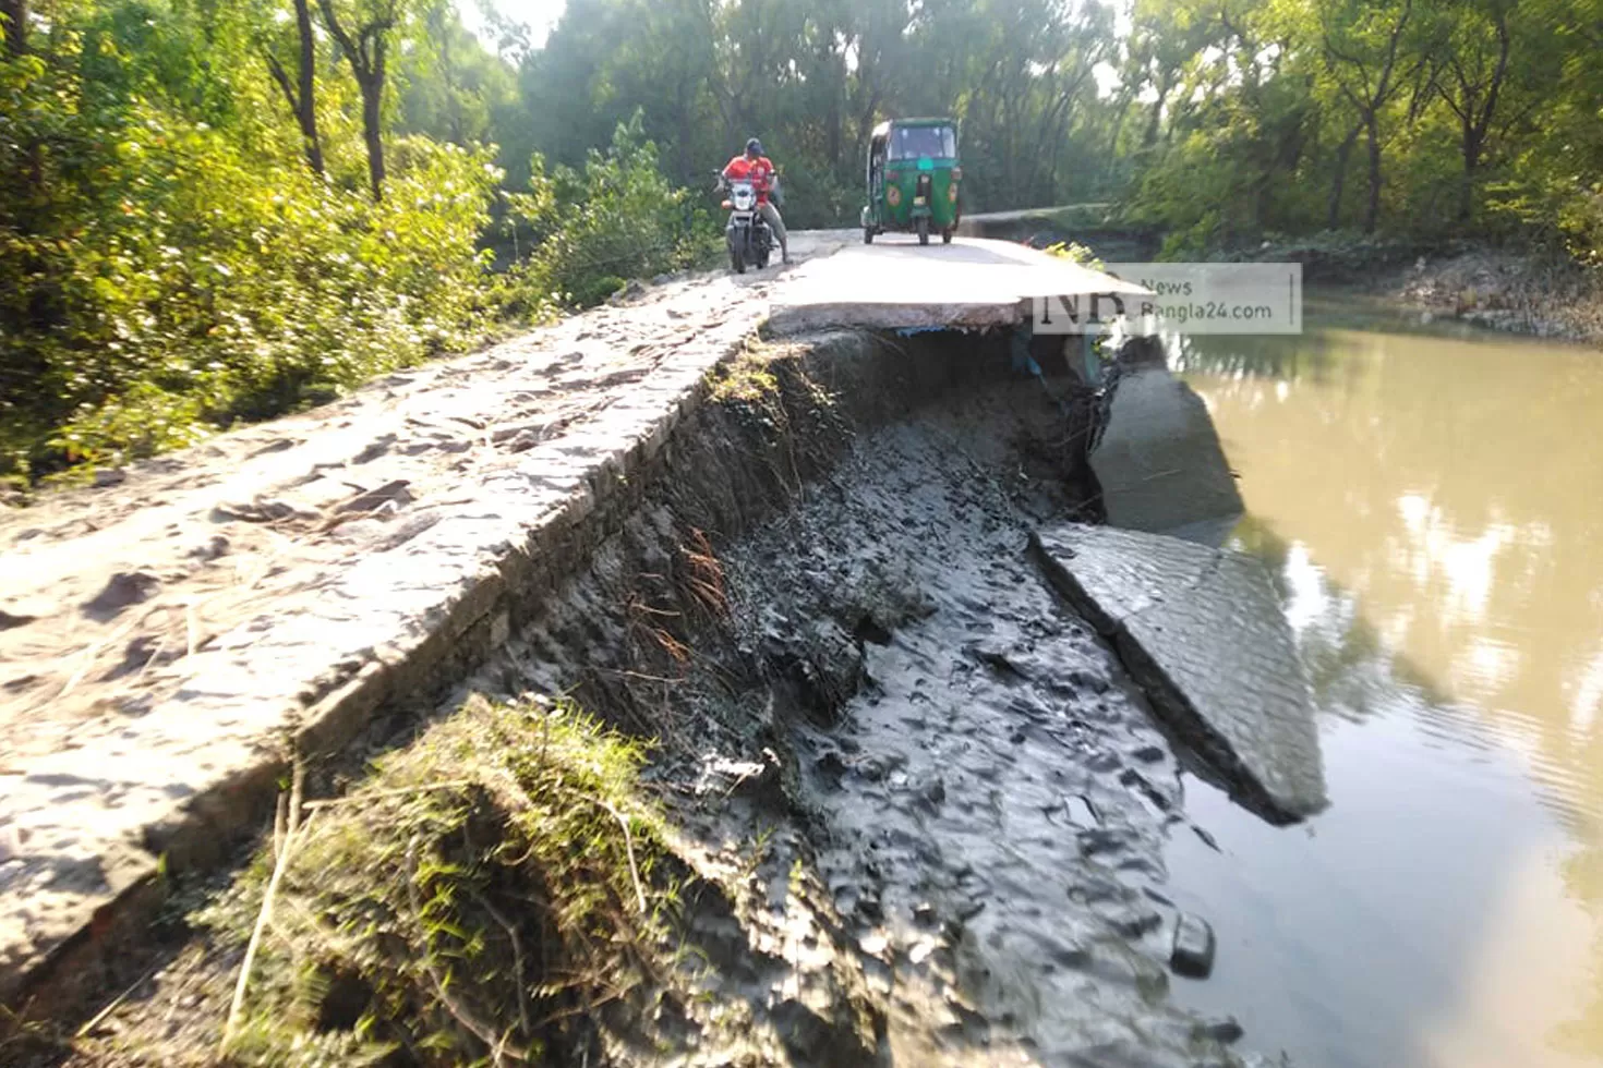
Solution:
[[[513,75],[449,6],[0,11],[27,30],[0,56],[0,477],[114,464],[303,407],[473,344],[499,315],[684,266],[705,247],[692,227],[715,232],[636,123],[580,176],[532,175],[515,210],[534,255],[492,275],[503,173],[487,139]],[[335,19],[356,59],[314,18]],[[377,144],[373,90],[345,77],[361,64],[399,83],[378,101]]]

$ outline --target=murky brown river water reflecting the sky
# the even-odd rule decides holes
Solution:
[[[1603,1065],[1603,351],[1350,303],[1191,338],[1314,681],[1330,809],[1188,780],[1196,1009],[1302,1068]]]

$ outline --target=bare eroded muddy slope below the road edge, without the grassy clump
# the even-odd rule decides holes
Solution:
[[[848,336],[713,395],[465,687],[656,738],[689,873],[689,985],[548,1063],[1257,1063],[1169,1002],[1178,767],[1026,557],[1079,496],[1040,383],[1002,344]],[[72,1063],[202,1063],[237,961],[181,943]]]

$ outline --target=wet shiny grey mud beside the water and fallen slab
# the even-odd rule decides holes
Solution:
[[[999,384],[862,439],[726,554],[731,602],[798,709],[798,802],[891,1063],[1242,1063],[1233,1022],[1169,1001],[1212,964],[1164,893],[1180,765],[1028,554],[1074,504],[1032,471],[1060,418]]]

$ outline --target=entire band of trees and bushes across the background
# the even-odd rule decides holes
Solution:
[[[458,5],[473,5],[471,34]],[[117,461],[717,242],[747,136],[851,224],[888,115],[965,207],[1172,255],[1322,231],[1603,250],[1598,0],[0,0],[0,477]]]

